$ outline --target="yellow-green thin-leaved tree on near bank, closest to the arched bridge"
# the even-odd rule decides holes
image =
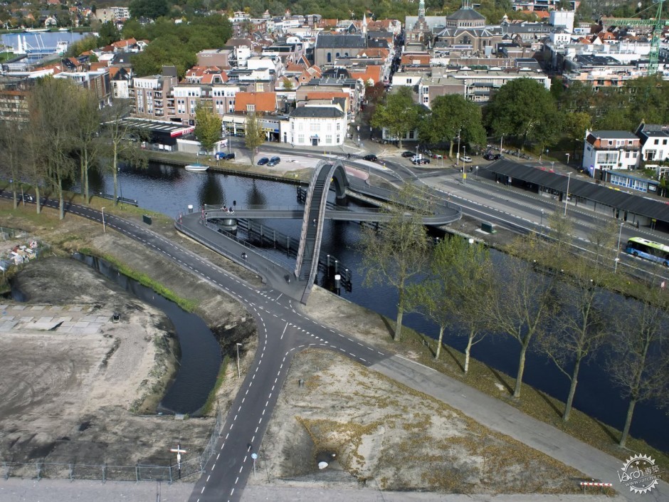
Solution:
[[[401,338],[406,288],[411,278],[425,271],[428,259],[429,238],[421,216],[430,214],[431,208],[418,196],[413,184],[404,184],[393,202],[383,209],[389,221],[378,231],[364,228],[359,243],[365,269],[364,284],[386,282],[397,290],[395,341]]]

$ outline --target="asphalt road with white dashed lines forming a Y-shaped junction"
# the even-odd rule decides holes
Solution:
[[[11,197],[6,192],[1,195]],[[46,205],[57,207],[57,202],[47,201]],[[70,213],[102,223],[100,211],[74,204],[68,205],[66,209]],[[293,300],[283,292],[271,287],[253,288],[223,268],[154,234],[144,226],[109,214],[105,215],[105,220],[110,228],[162,253],[178,266],[237,298],[246,306],[258,325],[259,345],[256,359],[228,414],[223,434],[216,445],[217,453],[206,464],[204,475],[196,483],[189,501],[241,500],[246,479],[253,471],[253,453],[258,451],[278,393],[285,383],[290,361],[296,352],[305,347],[337,350],[364,365],[374,366],[374,369],[420,392],[433,394],[446,402],[457,398],[456,407],[488,427],[517,436],[517,439],[539,451],[557,456],[565,464],[575,466],[588,474],[592,473],[591,476],[604,479],[613,479],[616,476],[616,469],[620,467],[619,461],[579,441],[564,437],[557,429],[534,423],[536,421],[523,414],[510,414],[507,409],[497,409],[500,405],[506,405],[468,387],[451,389],[453,382],[433,370],[409,360],[391,358],[389,354],[320,325],[302,315]],[[499,404],[493,407],[491,402]],[[491,412],[491,409],[495,411]],[[621,495],[631,501],[666,501],[669,500],[669,486],[660,482],[658,487],[644,496],[636,496],[634,493]]]

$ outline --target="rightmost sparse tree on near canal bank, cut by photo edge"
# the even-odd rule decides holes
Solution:
[[[607,369],[613,384],[629,398],[620,446],[629,436],[638,402],[663,400],[669,394],[669,294],[649,286],[638,300],[628,299],[618,308]]]

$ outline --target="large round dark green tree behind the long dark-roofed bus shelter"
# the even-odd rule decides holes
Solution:
[[[558,122],[551,93],[531,78],[518,78],[502,85],[485,111],[494,134],[519,138],[521,148],[527,141],[547,141]]]

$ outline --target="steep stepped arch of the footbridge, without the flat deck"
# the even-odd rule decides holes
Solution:
[[[313,283],[316,281],[327,192],[330,190],[330,183],[335,172],[337,172],[337,179],[346,179],[344,164],[341,161],[337,160],[333,164],[325,161],[319,162],[309,183],[309,189],[307,189],[300,248],[297,251],[295,265],[295,278],[299,281],[307,281],[302,303],[307,303]]]

